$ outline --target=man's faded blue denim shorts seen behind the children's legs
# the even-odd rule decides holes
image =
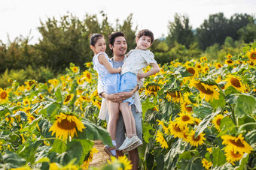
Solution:
[[[132,105],[132,112],[135,119],[137,136],[142,141],[142,112],[136,112],[136,106],[134,104]],[[108,122],[108,114],[106,120]],[[123,116],[122,113],[119,112],[119,118],[117,120],[117,127],[115,132],[115,142],[117,143],[116,149],[118,149],[123,144],[125,137],[126,130],[123,122]]]

